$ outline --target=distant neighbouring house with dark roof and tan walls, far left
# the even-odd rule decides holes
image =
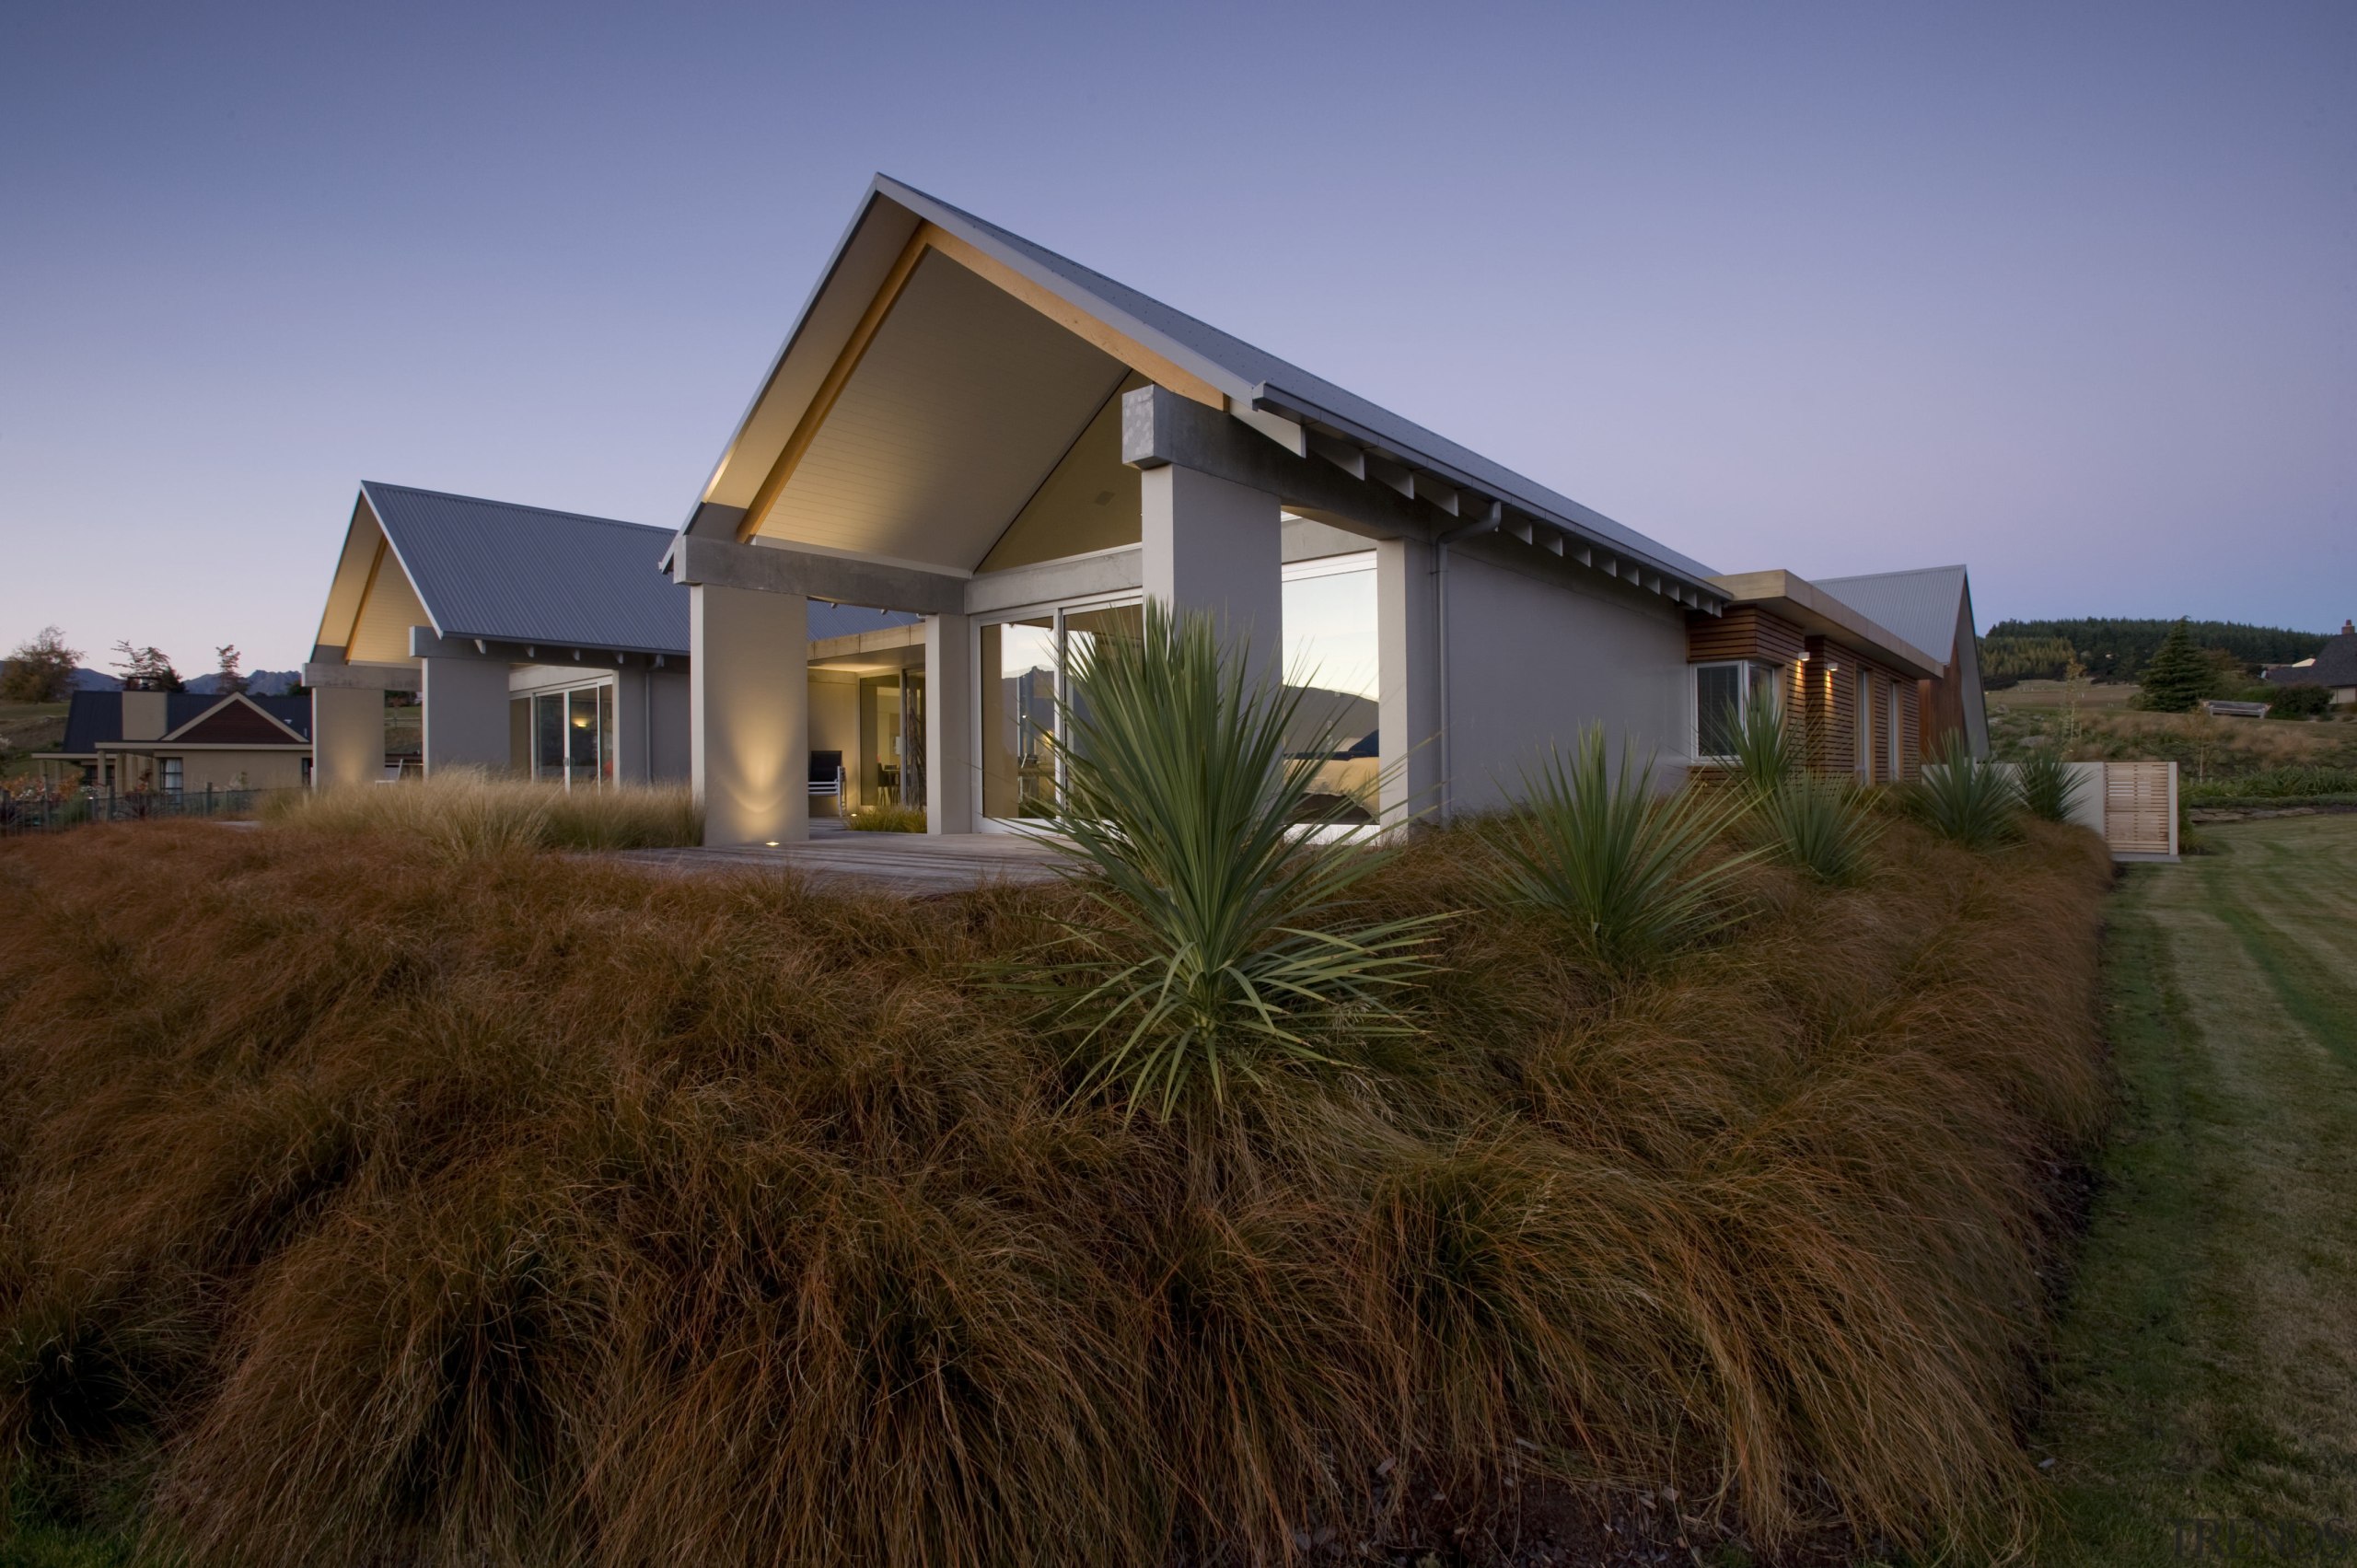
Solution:
[[[75,691],[42,783],[94,790],[288,790],[311,780],[311,698]]]

